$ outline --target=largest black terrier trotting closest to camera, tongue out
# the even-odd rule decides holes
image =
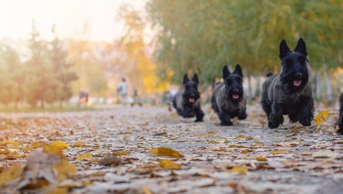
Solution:
[[[270,128],[282,124],[283,115],[288,115],[291,122],[311,125],[314,106],[307,54],[302,38],[298,40],[294,51],[290,50],[285,40],[281,41],[281,73],[268,73],[262,89],[262,108],[268,117]]]

